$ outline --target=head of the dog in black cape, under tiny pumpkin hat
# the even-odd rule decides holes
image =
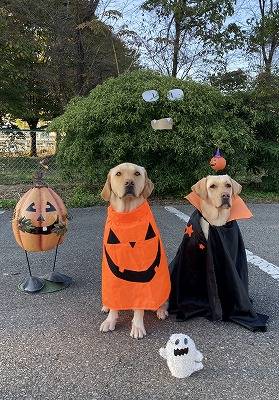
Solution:
[[[239,194],[241,189],[229,175],[209,175],[192,186],[193,192],[215,208],[230,208],[232,196]]]

